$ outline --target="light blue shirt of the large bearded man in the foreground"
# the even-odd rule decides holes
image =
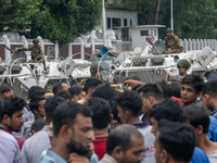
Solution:
[[[43,151],[40,155],[39,163],[67,163],[63,158],[51,151],[50,149]]]

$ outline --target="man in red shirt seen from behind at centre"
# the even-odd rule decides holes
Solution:
[[[92,124],[94,128],[94,152],[99,160],[106,153],[106,139],[108,136],[108,124],[112,121],[111,108],[107,101],[100,98],[88,100],[88,106],[93,112]]]

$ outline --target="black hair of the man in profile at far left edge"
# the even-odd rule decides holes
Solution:
[[[0,121],[2,121],[4,115],[8,115],[9,117],[12,117],[12,115],[23,110],[23,108],[26,105],[26,102],[24,99],[14,97],[14,98],[7,98],[3,100],[3,109],[1,111],[1,117]]]

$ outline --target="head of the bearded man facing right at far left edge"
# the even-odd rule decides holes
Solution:
[[[23,108],[26,105],[25,100],[21,98],[4,99],[1,112],[1,124],[11,131],[21,131],[24,123]]]

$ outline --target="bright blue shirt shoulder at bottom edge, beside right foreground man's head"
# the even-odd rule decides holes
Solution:
[[[209,161],[206,153],[202,149],[195,147],[191,163],[209,163]]]

